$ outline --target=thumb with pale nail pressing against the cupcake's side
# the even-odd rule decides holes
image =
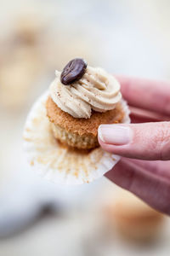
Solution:
[[[170,122],[99,125],[106,151],[141,160],[170,160]]]

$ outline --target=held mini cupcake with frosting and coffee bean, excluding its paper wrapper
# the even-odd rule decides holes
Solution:
[[[74,148],[98,147],[99,125],[122,122],[120,84],[82,59],[70,61],[55,74],[46,104],[54,137]]]

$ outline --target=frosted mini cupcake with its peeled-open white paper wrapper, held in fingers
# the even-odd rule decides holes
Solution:
[[[99,125],[129,123],[129,110],[120,84],[102,68],[76,58],[55,75],[26,120],[26,153],[55,183],[89,183],[120,159],[99,147]]]

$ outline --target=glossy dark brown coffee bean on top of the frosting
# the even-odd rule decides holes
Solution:
[[[68,85],[78,81],[79,79],[82,79],[82,76],[86,71],[87,65],[88,64],[86,61],[79,58],[69,61],[69,63],[64,67],[61,73],[61,83]]]

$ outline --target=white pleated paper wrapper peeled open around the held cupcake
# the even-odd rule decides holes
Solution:
[[[24,148],[29,163],[48,180],[59,184],[90,183],[102,177],[120,160],[120,156],[95,148],[88,154],[63,148],[56,142],[46,116],[48,92],[34,103],[26,120]],[[122,101],[125,112],[123,123],[129,123],[129,109]]]

